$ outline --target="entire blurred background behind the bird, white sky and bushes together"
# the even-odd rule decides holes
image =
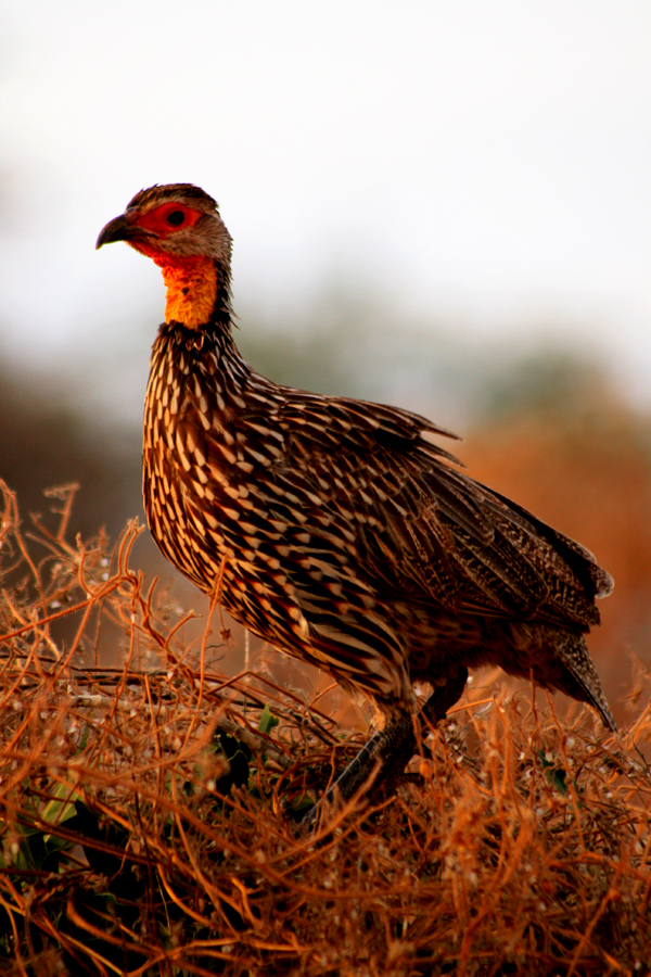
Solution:
[[[243,354],[396,403],[614,575],[609,697],[651,665],[647,0],[4,0],[0,477],[73,531],[141,513],[159,272],[100,229],[191,181]],[[146,538],[137,561],[171,568]],[[181,600],[203,599],[177,581]],[[239,652],[238,652],[239,654]]]

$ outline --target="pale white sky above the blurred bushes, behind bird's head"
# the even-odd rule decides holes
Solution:
[[[100,369],[163,291],[97,234],[191,181],[237,306],[359,275],[469,342],[597,348],[651,405],[649,0],[4,0],[0,138],[5,357]]]

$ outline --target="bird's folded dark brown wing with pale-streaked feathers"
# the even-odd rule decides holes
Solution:
[[[598,623],[593,600],[610,593],[610,576],[587,549],[426,440],[454,435],[393,407],[278,393],[272,426],[282,448],[264,482],[276,506],[283,499],[304,515],[311,506],[311,549],[320,537],[324,553],[336,551],[339,537],[383,599],[584,630]]]

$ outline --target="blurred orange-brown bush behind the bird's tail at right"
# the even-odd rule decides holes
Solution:
[[[531,385],[512,376],[458,454],[473,477],[578,540],[614,578],[589,638],[614,701],[629,682],[628,652],[651,664],[651,423],[593,369],[525,366]]]

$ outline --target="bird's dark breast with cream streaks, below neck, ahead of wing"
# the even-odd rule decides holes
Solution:
[[[280,569],[286,522],[260,485],[282,454],[282,435],[247,422],[215,351],[154,347],[143,437],[148,522],[163,551],[202,589],[229,568],[252,580]]]

